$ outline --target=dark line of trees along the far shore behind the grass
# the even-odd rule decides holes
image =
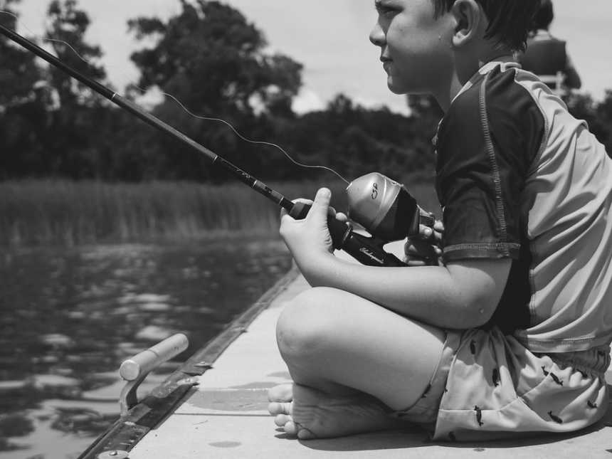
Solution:
[[[0,7],[19,14],[19,1],[0,0]],[[332,167],[349,179],[372,171],[396,179],[431,175],[431,138],[441,116],[431,97],[408,97],[410,116],[368,109],[342,94],[325,110],[298,115],[292,102],[302,85],[300,63],[269,53],[262,31],[231,6],[179,1],[181,11],[167,21],[128,21],[142,48],[131,56],[139,78],[127,88],[126,97],[134,100],[142,90],[161,88],[191,113],[227,120],[248,139],[280,144],[298,162]],[[14,16],[0,14],[0,22],[16,26]],[[54,40],[46,43],[60,60],[112,87],[100,64],[100,47],[85,40],[89,25],[77,0],[53,0],[45,36]],[[154,45],[147,47],[150,43]],[[155,132],[60,70],[42,65],[4,37],[0,87],[0,179],[230,178],[200,154]],[[612,152],[612,93],[602,102],[573,95],[568,104]],[[154,105],[152,113],[261,179],[315,179],[322,174],[297,167],[278,149],[244,141],[221,122],[192,116],[172,98]]]

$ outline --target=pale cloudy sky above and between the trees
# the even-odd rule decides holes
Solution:
[[[22,0],[19,31],[40,36],[50,0]],[[406,112],[405,98],[386,88],[379,50],[369,43],[376,21],[374,0],[225,0],[255,23],[270,51],[285,53],[304,65],[303,88],[295,101],[298,112],[325,107],[344,93],[366,107],[387,105]],[[585,6],[586,5],[586,6]],[[127,33],[127,19],[179,13],[179,0],[78,0],[92,21],[88,42],[105,54],[110,81],[122,90],[137,80],[129,56],[142,47]],[[568,43],[583,81],[583,90],[601,100],[612,90],[612,0],[554,0],[551,31]]]

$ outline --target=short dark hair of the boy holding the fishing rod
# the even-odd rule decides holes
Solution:
[[[542,0],[476,0],[489,19],[485,38],[496,38],[512,51],[524,51]],[[436,16],[450,11],[455,0],[433,0]]]

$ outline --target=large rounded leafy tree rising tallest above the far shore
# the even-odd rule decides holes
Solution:
[[[265,53],[263,33],[231,6],[206,0],[181,0],[181,6],[167,23],[142,17],[128,22],[137,39],[159,38],[153,48],[132,54],[142,72],[139,86],[157,85],[189,100],[194,110],[218,115],[290,106],[302,65]]]

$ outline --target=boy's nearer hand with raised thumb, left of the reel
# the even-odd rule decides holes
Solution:
[[[336,213],[332,207],[329,207],[331,196],[329,189],[322,188],[317,191],[315,201],[297,200],[312,204],[312,208],[303,220],[295,220],[285,209],[280,211],[280,236],[298,264],[305,258],[334,251],[332,236],[327,229],[327,216],[335,216],[340,221],[347,221],[347,217],[344,213]]]

